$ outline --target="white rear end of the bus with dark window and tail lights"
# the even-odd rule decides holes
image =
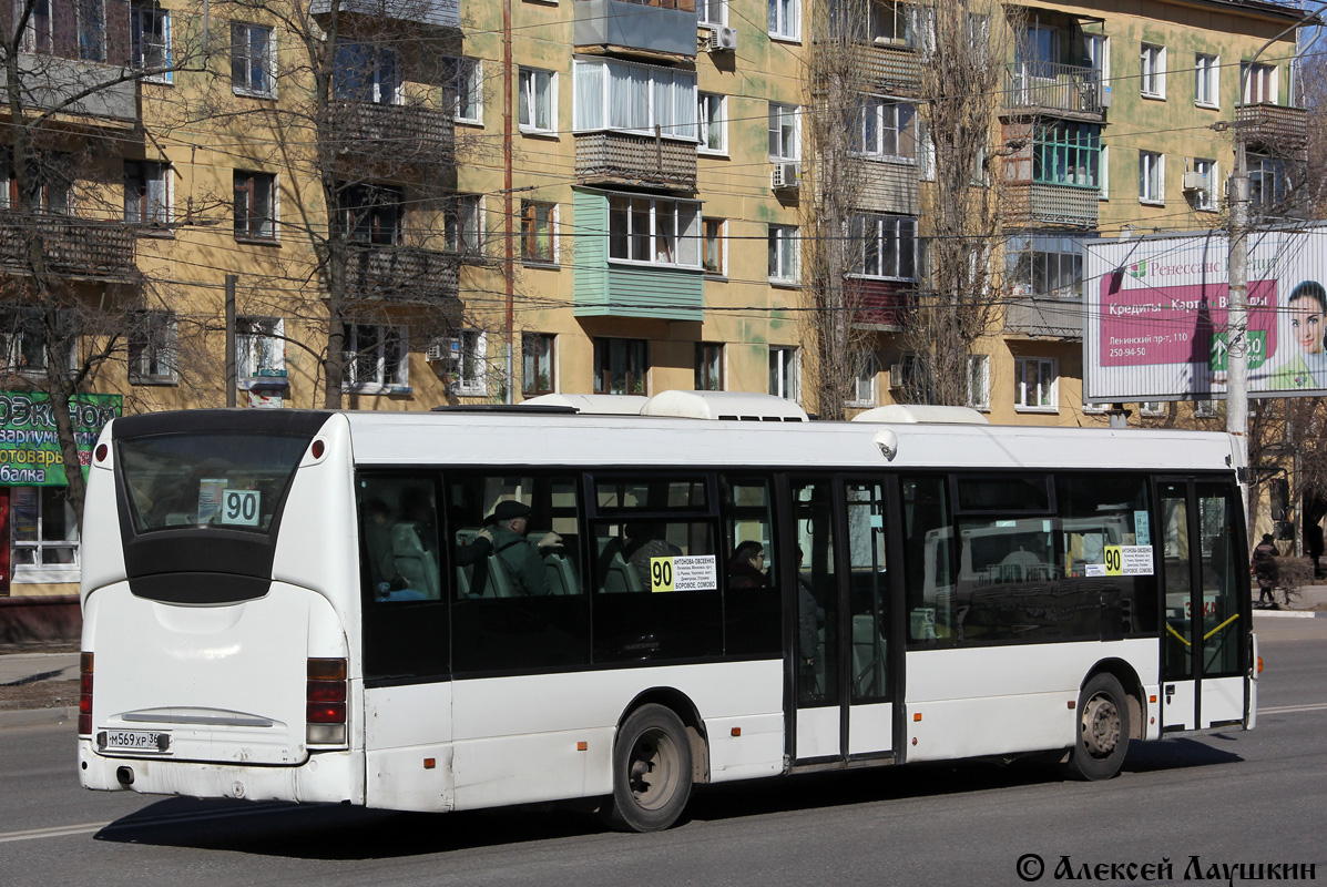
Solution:
[[[85,506],[82,785],[362,801],[342,417],[115,420]],[[358,786],[358,787],[357,787]]]

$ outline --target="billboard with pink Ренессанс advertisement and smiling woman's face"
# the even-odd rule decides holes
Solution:
[[[1327,226],[1247,243],[1250,396],[1327,393]],[[1084,400],[1225,397],[1225,232],[1092,240],[1085,252]]]

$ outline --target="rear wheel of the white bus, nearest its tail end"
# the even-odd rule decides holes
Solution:
[[[617,732],[605,822],[620,831],[662,831],[690,797],[691,742],[682,718],[664,705],[642,705]]]

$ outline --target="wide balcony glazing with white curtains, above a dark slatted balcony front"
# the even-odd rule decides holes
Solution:
[[[681,139],[697,138],[694,70],[674,70],[628,61],[576,58],[577,130],[610,129]],[[721,113],[722,118],[722,113]]]

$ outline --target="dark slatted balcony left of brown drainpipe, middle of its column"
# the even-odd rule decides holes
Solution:
[[[451,116],[421,105],[334,100],[328,106],[337,146],[380,162],[449,166],[455,162]]]

